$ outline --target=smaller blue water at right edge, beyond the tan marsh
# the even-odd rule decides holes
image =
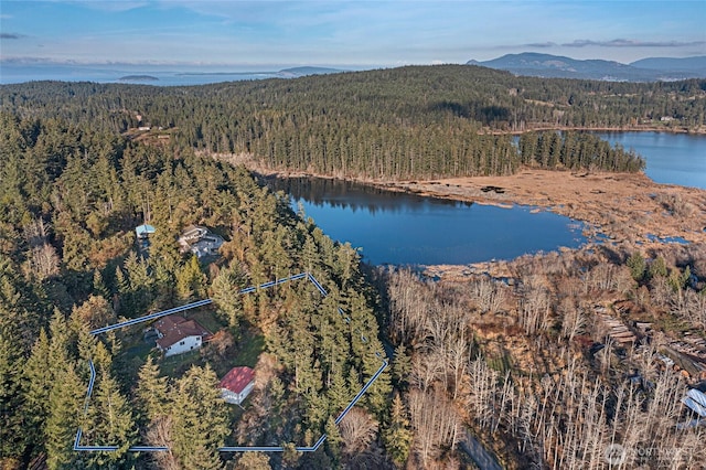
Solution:
[[[598,133],[610,143],[634,149],[645,158],[645,173],[663,184],[706,189],[706,136],[666,132]]]

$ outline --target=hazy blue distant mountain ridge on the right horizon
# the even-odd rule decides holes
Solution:
[[[706,77],[706,73],[699,73],[697,68],[648,68],[612,61],[579,61],[560,55],[539,54],[534,52],[507,54],[502,57],[484,62],[469,61],[467,64],[482,65],[484,67],[507,71],[515,75],[552,78],[585,78],[612,82],[656,82]],[[655,62],[655,64],[661,65],[663,63]]]

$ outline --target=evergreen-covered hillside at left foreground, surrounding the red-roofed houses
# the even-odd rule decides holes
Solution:
[[[376,297],[353,248],[243,168],[191,149],[57,119],[0,122],[2,468],[217,468],[226,444],[311,446],[335,431],[333,418],[384,357]],[[138,243],[145,222],[154,229]],[[180,249],[193,225],[225,242],[215,256]],[[310,282],[237,295],[301,271],[328,296]],[[145,325],[90,333],[205,298],[213,305],[188,313],[213,333],[195,351],[168,357]],[[88,360],[97,376],[84,408]],[[256,370],[257,392],[228,408],[218,380],[243,365]],[[354,414],[381,421],[388,393],[384,373]],[[74,451],[79,427],[83,445],[118,449]],[[138,444],[172,452],[128,451]],[[340,458],[292,457],[320,468]]]

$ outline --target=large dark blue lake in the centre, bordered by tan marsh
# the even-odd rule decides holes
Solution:
[[[578,247],[582,226],[532,207],[501,209],[383,191],[315,178],[279,179],[270,186],[333,239],[362,247],[373,264],[436,265],[511,259],[525,253]]]

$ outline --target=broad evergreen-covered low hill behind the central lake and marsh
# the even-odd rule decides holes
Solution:
[[[3,86],[0,100],[26,118],[61,116],[109,132],[161,127],[182,147],[248,154],[274,169],[409,179],[512,174],[528,156],[491,132],[663,116],[698,127],[706,82],[543,79],[445,65],[194,87],[29,83]],[[622,167],[602,153],[574,160]]]

